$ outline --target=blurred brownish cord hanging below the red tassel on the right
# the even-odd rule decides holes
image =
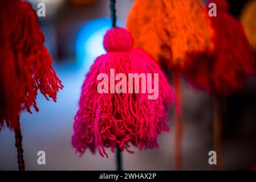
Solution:
[[[217,154],[217,164],[215,170],[222,170],[222,117],[221,117],[221,100],[214,97],[213,101],[214,123],[213,123],[213,147]]]

